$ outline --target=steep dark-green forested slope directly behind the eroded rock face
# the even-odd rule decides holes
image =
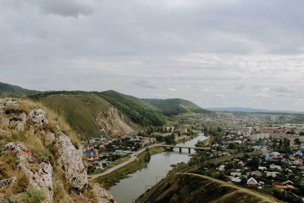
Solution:
[[[166,123],[167,118],[164,115],[134,96],[125,95],[114,90],[95,94],[107,100],[134,123],[140,123],[143,126],[163,126]]]

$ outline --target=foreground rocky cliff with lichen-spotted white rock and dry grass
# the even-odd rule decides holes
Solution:
[[[77,135],[56,118],[36,103],[0,100],[0,202],[115,202],[88,185]]]

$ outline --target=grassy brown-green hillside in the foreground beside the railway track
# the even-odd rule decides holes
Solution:
[[[159,188],[158,196],[154,202],[275,203],[281,201],[271,196],[257,193],[257,191],[237,187],[207,176],[178,173],[168,177],[166,182]]]

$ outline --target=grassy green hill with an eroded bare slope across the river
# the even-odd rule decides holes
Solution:
[[[41,98],[40,102],[65,117],[84,140],[137,131],[128,117],[95,94],[49,95]]]

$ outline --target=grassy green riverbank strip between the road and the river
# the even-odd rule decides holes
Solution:
[[[149,148],[149,151],[143,151],[136,155],[136,159],[133,159],[130,163],[108,173],[106,176],[99,176],[93,180],[88,180],[92,183],[99,183],[105,189],[109,189],[109,187],[115,185],[119,182],[120,179],[128,178],[129,174],[136,172],[147,166],[149,162],[144,162],[144,156],[149,152],[150,155],[158,154],[164,152],[165,149],[161,146],[154,146]]]

